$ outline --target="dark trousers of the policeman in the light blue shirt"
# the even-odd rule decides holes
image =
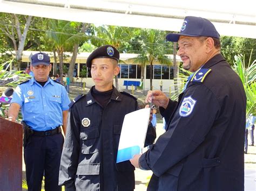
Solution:
[[[64,138],[62,133],[52,136],[31,136],[24,148],[28,190],[41,190],[43,176],[46,191],[61,191],[58,186],[59,164]]]

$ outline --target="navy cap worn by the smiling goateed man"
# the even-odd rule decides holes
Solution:
[[[167,34],[166,40],[177,42],[180,36],[220,38],[219,33],[210,20],[192,16],[185,17],[180,33]]]

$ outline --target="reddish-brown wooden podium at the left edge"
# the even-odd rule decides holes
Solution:
[[[0,191],[22,190],[22,131],[0,117]]]

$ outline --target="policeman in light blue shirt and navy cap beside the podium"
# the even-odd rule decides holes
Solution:
[[[45,53],[31,57],[34,77],[17,86],[8,110],[15,121],[21,108],[24,124],[24,160],[28,190],[61,190],[58,172],[68,118],[69,97],[62,84],[49,77],[50,58]]]

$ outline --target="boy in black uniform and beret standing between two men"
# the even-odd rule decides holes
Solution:
[[[59,185],[66,190],[130,191],[135,187],[131,162],[116,163],[124,116],[138,109],[135,97],[112,85],[120,70],[118,60],[119,52],[110,45],[97,48],[87,59],[95,86],[70,105],[59,172]],[[156,131],[149,125],[145,144],[155,138]]]

